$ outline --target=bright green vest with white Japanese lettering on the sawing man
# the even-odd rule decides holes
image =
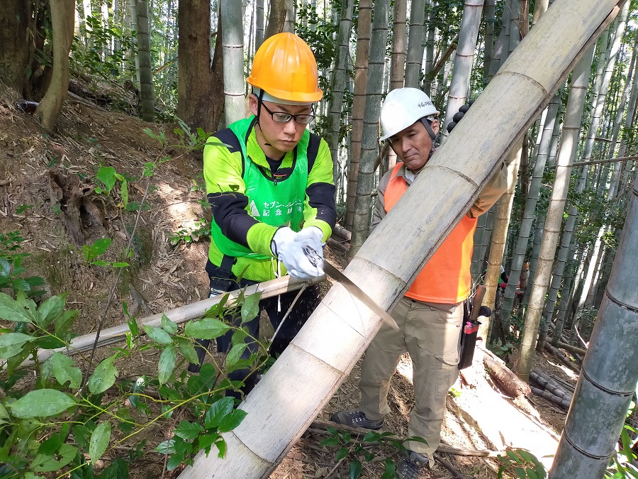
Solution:
[[[250,133],[254,116],[235,121],[228,128],[235,133],[242,153],[245,184],[244,194],[248,197],[248,214],[262,223],[271,226],[289,225],[294,231],[301,229],[303,221],[303,202],[306,200],[308,184],[308,141],[310,132],[303,131],[301,140],[293,150],[293,172],[289,177],[268,177],[264,167],[259,167],[250,158],[246,140]],[[232,193],[230,193],[232,194]],[[228,256],[243,256],[254,259],[267,259],[269,256],[254,253],[249,248],[226,238],[215,221],[211,224],[211,236],[217,248]]]

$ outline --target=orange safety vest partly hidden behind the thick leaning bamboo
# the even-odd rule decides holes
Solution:
[[[408,190],[405,179],[397,176],[400,167],[401,163],[398,163],[392,170],[392,178],[384,194],[386,213]],[[469,297],[476,222],[476,218],[463,216],[425,263],[405,296],[423,302],[447,304],[458,303]]]

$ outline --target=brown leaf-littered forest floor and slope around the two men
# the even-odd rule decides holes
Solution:
[[[104,326],[125,322],[121,307],[128,304],[133,316],[144,316],[191,304],[208,295],[204,271],[206,241],[196,240],[199,221],[210,220],[205,197],[201,158],[182,153],[179,148],[162,148],[155,135],[164,131],[169,143],[177,143],[172,125],[145,123],[139,119],[67,101],[51,136],[42,133],[32,116],[18,111],[0,98],[0,232],[19,231],[23,251],[30,256],[23,262],[28,275],[38,275],[47,283],[47,294],[67,293],[67,306],[81,314],[74,326],[77,334],[95,331],[104,316]],[[159,165],[150,182],[146,202],[133,236],[135,256],[125,268],[115,290],[116,301],[106,316],[105,306],[113,283],[113,272],[87,265],[82,245],[111,237],[113,244],[104,260],[116,260],[133,231],[135,213],[118,209],[114,196],[97,194],[94,177],[99,167],[114,167],[128,179],[129,201],[142,202],[147,191],[145,164],[168,160]],[[116,185],[116,189],[117,189]],[[172,244],[171,238],[174,238]],[[345,255],[326,248],[332,263],[345,266]],[[328,290],[325,281],[322,289]],[[110,348],[103,348],[104,350]],[[140,360],[118,364],[121,378],[150,373],[156,367],[158,350],[147,350]],[[102,351],[101,354],[108,354]],[[551,356],[537,353],[534,367],[575,385],[571,370]],[[471,373],[474,370],[474,373]],[[155,370],[156,373],[156,370]],[[467,374],[466,374],[467,373]],[[413,404],[411,365],[405,356],[394,375],[384,430],[405,436]],[[347,478],[349,461],[335,459],[336,448],[322,446],[330,414],[338,409],[357,407],[359,364],[328,402],[317,421],[293,446],[272,479]],[[566,411],[530,395],[531,411],[523,411],[493,384],[480,363],[464,371],[447,399],[442,443],[473,451],[503,451],[525,448],[549,468],[566,417]],[[151,430],[147,448],[152,450],[167,439],[165,429]],[[367,446],[381,461],[364,463],[362,478],[380,478],[383,460],[401,459],[387,446]],[[159,478],[164,458],[135,466],[133,477]],[[500,462],[494,457],[439,453],[435,466],[422,478],[496,478]],[[442,461],[441,461],[442,460]],[[444,463],[449,466],[446,468]],[[451,470],[457,472],[451,472]],[[504,477],[514,477],[506,471]]]

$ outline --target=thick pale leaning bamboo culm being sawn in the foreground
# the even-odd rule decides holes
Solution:
[[[541,114],[578,58],[615,16],[613,0],[556,0],[352,258],[345,274],[381,307],[399,301],[476,201],[503,155]],[[223,434],[227,450],[198,453],[181,479],[267,478],[365,351],[381,319],[334,285]]]

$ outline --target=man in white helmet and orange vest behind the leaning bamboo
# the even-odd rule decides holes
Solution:
[[[401,163],[384,175],[377,188],[371,229],[396,204],[434,153],[439,111],[416,88],[395,89],[381,107],[381,140],[388,141]],[[332,421],[380,429],[390,412],[388,389],[401,355],[413,363],[415,407],[405,443],[409,454],[398,466],[401,478],[418,478],[433,463],[440,444],[445,397],[459,377],[459,337],[463,306],[471,289],[470,265],[476,218],[486,212],[507,187],[505,168],[483,188],[466,216],[428,260],[392,311],[400,331],[384,324],[366,350],[359,389],[360,409],[332,414]],[[427,198],[425,198],[427,201]]]

